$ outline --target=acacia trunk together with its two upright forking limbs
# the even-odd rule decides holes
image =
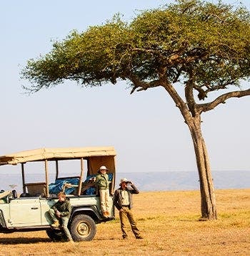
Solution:
[[[191,76],[192,77],[192,76]],[[194,78],[194,77],[192,77]],[[199,183],[201,191],[201,220],[217,219],[216,199],[214,193],[214,184],[211,176],[211,168],[209,164],[209,155],[206,151],[206,144],[201,133],[201,110],[197,108],[194,100],[194,84],[190,79],[186,83],[185,97],[186,103],[176,92],[174,87],[167,79],[162,79],[161,83],[176,103],[176,107],[181,111],[185,123],[189,126],[191,137],[194,143],[194,151],[196,155],[196,164],[199,172]]]

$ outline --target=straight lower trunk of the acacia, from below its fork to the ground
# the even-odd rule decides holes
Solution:
[[[191,131],[196,154],[196,163],[199,171],[199,183],[201,191],[201,219],[217,219],[216,199],[214,184],[211,176],[209,156],[206,151],[206,144],[201,133],[201,116],[187,120],[187,125]]]

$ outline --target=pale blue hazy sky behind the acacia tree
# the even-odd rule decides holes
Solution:
[[[72,30],[84,32],[116,13],[127,21],[169,1],[0,1],[0,155],[44,147],[114,146],[120,172],[196,171],[191,135],[161,88],[130,95],[126,83],[79,87],[64,82],[26,95],[20,72]],[[248,9],[248,0],[241,1]],[[239,4],[237,0],[224,3]],[[249,85],[244,85],[248,86]],[[250,98],[202,115],[212,171],[250,171]],[[2,168],[2,167],[1,167]]]

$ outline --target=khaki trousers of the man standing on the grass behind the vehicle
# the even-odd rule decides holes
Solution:
[[[129,223],[131,225],[131,229],[132,229],[134,235],[138,236],[140,234],[140,231],[139,231],[139,229],[136,226],[136,221],[134,219],[134,214],[129,209],[129,207],[122,207],[122,209],[123,209],[123,211],[119,212],[122,236],[123,237],[127,237],[128,236],[127,233],[126,233],[126,225],[125,225],[125,219],[126,218],[129,219]]]

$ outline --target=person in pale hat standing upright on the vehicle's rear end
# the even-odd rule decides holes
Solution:
[[[108,218],[109,213],[109,175],[106,174],[106,166],[101,166],[99,169],[99,174],[96,176],[95,183],[96,187],[100,194],[100,202],[101,202],[101,211],[105,218]]]

